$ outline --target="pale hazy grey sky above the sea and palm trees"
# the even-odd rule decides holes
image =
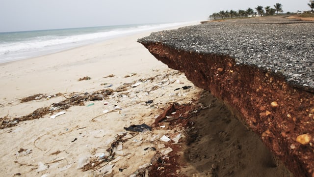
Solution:
[[[311,10],[309,0],[1,0],[0,32],[206,20],[277,2],[284,12]]]

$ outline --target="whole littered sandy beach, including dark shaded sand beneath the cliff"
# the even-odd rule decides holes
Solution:
[[[149,34],[0,64],[0,176],[285,176],[223,104],[136,42]]]

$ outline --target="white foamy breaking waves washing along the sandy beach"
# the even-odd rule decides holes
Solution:
[[[78,35],[45,35],[16,42],[0,41],[0,63],[49,54],[113,37],[129,35],[153,29],[165,29],[188,23],[190,22],[119,27],[108,31],[95,31]]]

